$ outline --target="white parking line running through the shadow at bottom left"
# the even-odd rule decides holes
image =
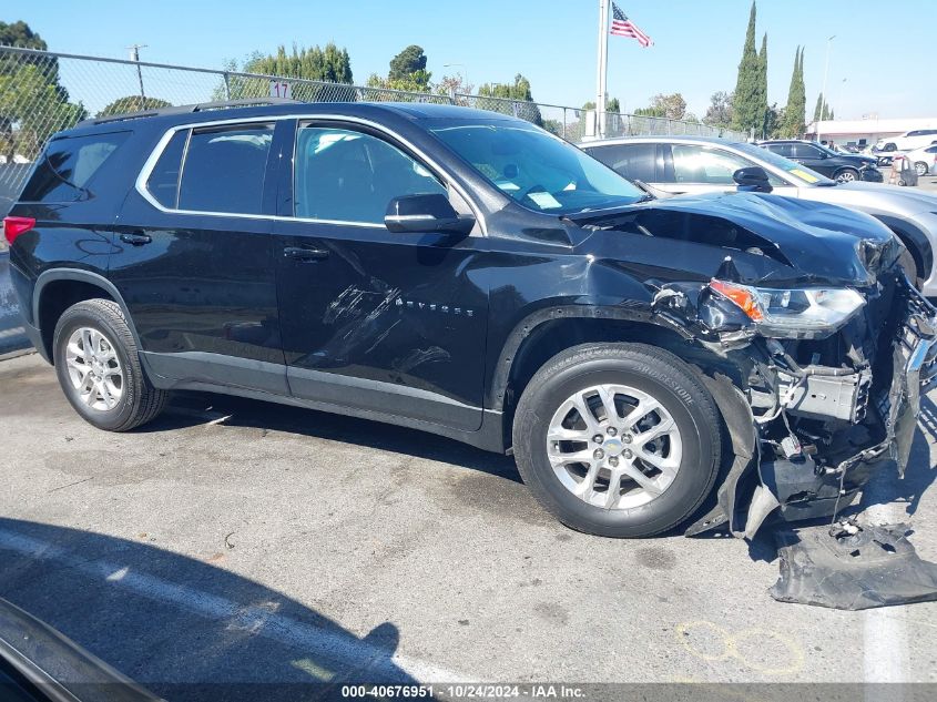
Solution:
[[[394,671],[396,667],[422,683],[468,682],[462,675],[426,661],[399,654],[388,658],[386,651],[355,638],[354,634],[328,631],[277,614],[275,603],[266,608],[241,604],[126,566],[105,560],[89,560],[79,553],[7,529],[0,529],[0,549],[73,568],[109,586],[124,588],[146,599],[177,607],[204,619],[224,622],[228,629],[248,631],[257,637],[296,648],[297,654],[304,659],[320,657],[326,665],[328,661],[337,661],[345,670],[367,670],[378,675],[383,673],[388,678],[399,678],[399,673],[395,674]],[[329,672],[337,672],[323,669],[322,665],[318,668],[324,671],[324,680],[330,679]]]

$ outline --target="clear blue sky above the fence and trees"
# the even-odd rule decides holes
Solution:
[[[52,50],[220,68],[225,59],[277,44],[335,41],[348,49],[356,82],[386,73],[410,43],[435,78],[462,72],[475,84],[527,75],[537,100],[581,105],[595,91],[598,0],[111,1],[6,0],[3,21],[26,20]],[[624,109],[681,92],[702,115],[716,90],[732,90],[750,0],[621,0],[654,40],[610,38],[609,93]],[[806,47],[807,111],[821,90],[826,38],[836,34],[829,100],[837,118],[865,113],[937,116],[929,58],[937,49],[935,0],[761,0],[758,42],[768,34],[768,98],[784,104],[796,45]],[[900,37],[899,48],[893,48]],[[909,62],[909,58],[911,61]],[[461,67],[444,68],[446,63]],[[845,82],[843,82],[845,80]]]

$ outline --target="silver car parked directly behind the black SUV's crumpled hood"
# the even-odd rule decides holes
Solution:
[[[671,194],[735,190],[739,169],[760,166],[777,195],[866,212],[885,223],[915,260],[918,282],[937,297],[937,196],[878,183],[837,183],[754,144],[703,136],[632,136],[581,144],[632,181]]]

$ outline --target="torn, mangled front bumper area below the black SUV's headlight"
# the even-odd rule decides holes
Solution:
[[[745,357],[757,355],[757,339],[740,347],[734,357],[740,368],[750,377],[771,375],[775,385],[761,400],[754,386],[745,391],[736,386],[746,406],[737,408],[734,421],[723,410],[735,462],[720,488],[719,507],[688,535],[729,522],[734,533],[752,537],[768,515],[786,521],[831,517],[880,470],[895,466],[904,475],[921,394],[937,384],[937,309],[903,274],[892,279],[894,295],[887,303],[857,321],[854,337],[844,329],[836,339],[846,348],[875,339],[877,353],[855,372],[804,384],[803,393],[788,395],[772,359],[744,365]],[[876,326],[883,319],[884,326]],[[725,407],[729,400],[725,395],[717,401]]]

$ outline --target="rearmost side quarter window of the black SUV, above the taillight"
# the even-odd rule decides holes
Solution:
[[[130,132],[112,132],[52,140],[39,157],[20,200],[48,203],[88,200],[94,175],[128,136]]]

